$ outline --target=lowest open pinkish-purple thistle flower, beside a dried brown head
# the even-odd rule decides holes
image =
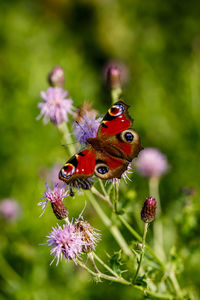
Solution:
[[[57,258],[56,265],[63,256],[76,263],[75,258],[81,253],[84,242],[81,232],[75,231],[74,224],[65,224],[63,228],[59,225],[53,227],[47,238],[48,246],[51,247],[51,254],[54,256],[53,261]]]

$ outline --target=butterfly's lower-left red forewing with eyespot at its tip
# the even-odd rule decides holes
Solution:
[[[59,178],[70,187],[89,189],[95,169],[95,150],[92,146],[84,148],[70,158],[62,167]]]

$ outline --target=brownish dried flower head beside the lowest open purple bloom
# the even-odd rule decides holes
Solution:
[[[88,222],[79,220],[75,222],[75,231],[82,234],[82,251],[88,253],[94,250],[100,234]]]

